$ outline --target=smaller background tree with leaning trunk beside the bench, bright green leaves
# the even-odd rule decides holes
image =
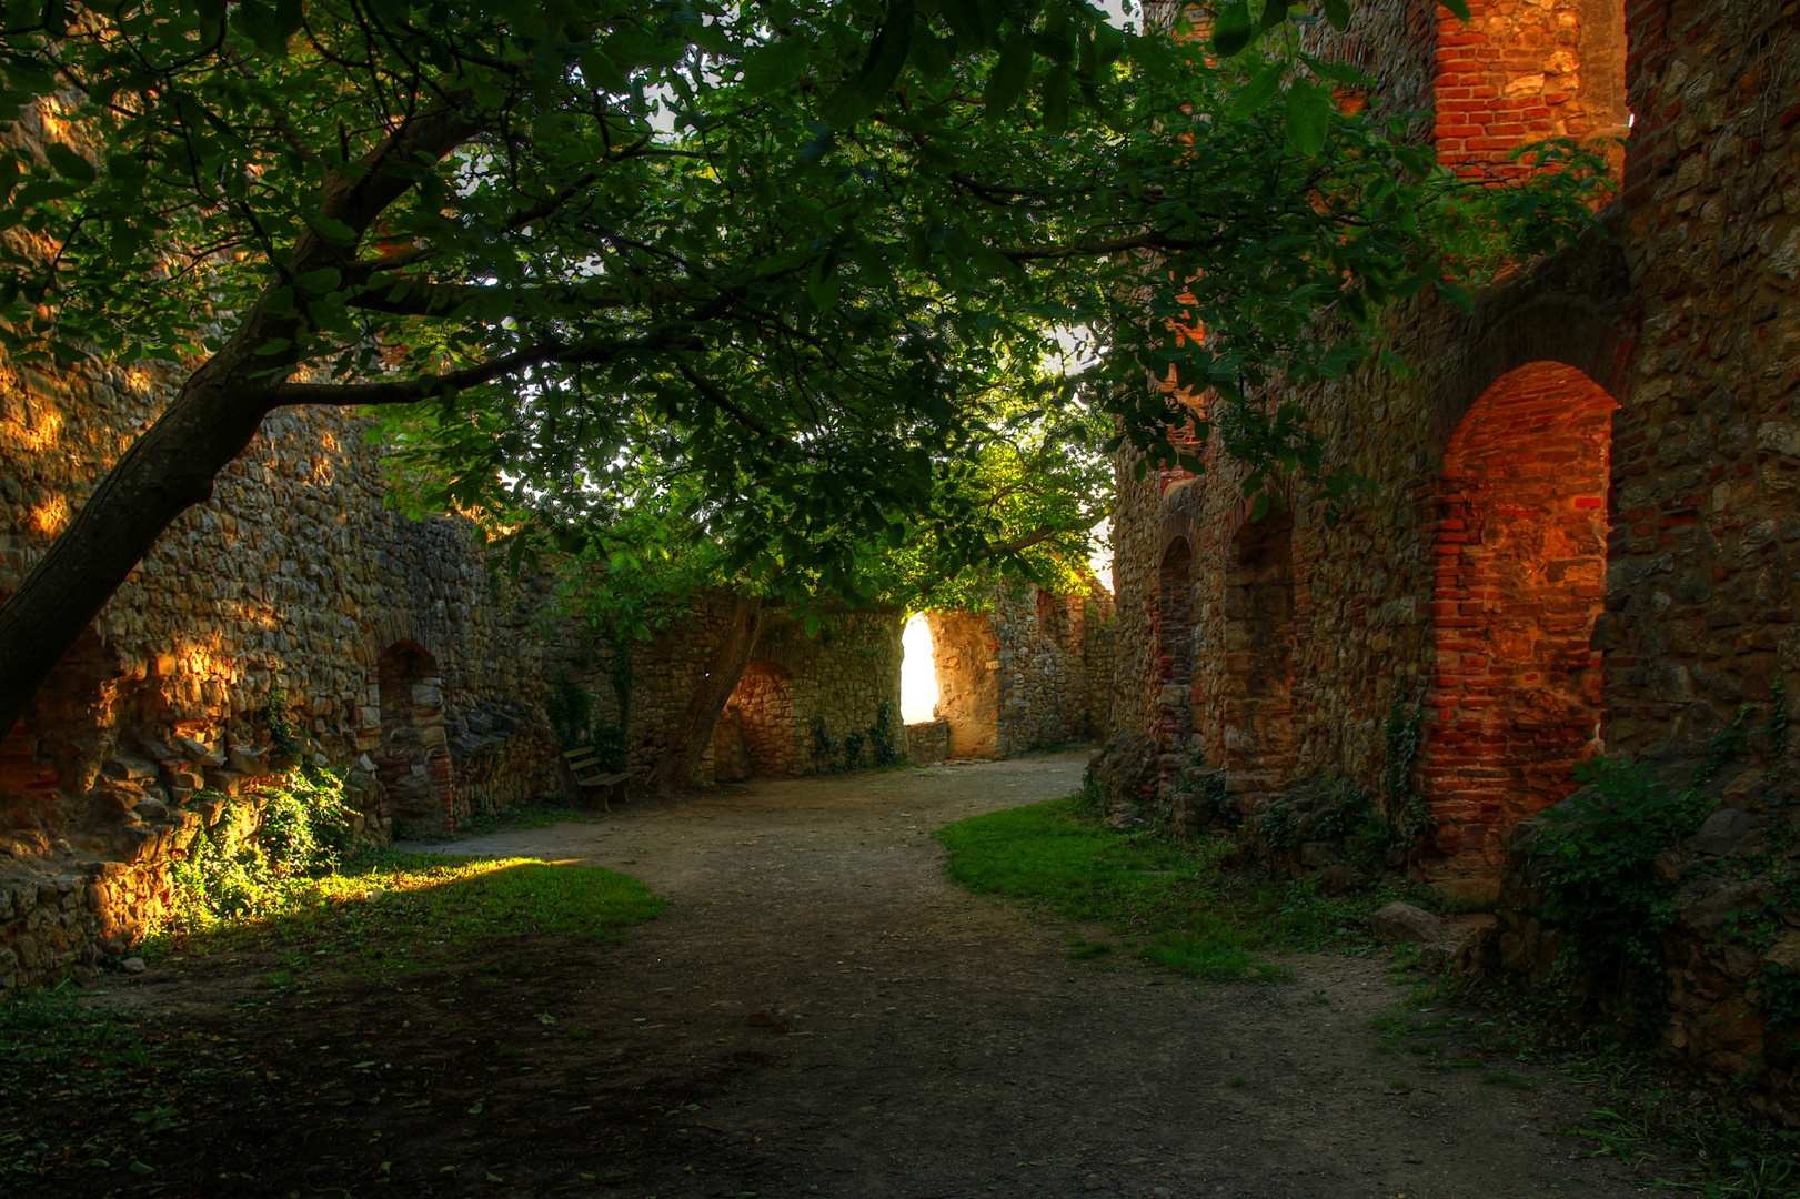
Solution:
[[[581,619],[596,641],[610,645],[616,679],[628,670],[632,641],[693,616],[700,601],[729,598],[724,636],[684,711],[662,729],[664,753],[644,780],[673,790],[698,769],[758,643],[781,625],[803,623],[814,634],[850,610],[970,607],[1001,576],[1062,592],[1085,589],[1089,531],[1111,508],[1111,463],[1102,452],[1107,421],[1093,409],[1051,418],[1017,401],[999,405],[997,418],[977,454],[932,470],[934,508],[961,518],[914,520],[900,542],[857,540],[853,596],[824,590],[817,576],[794,578],[767,565],[758,572],[734,562],[693,517],[706,495],[679,470],[659,470],[661,486],[634,488],[628,506],[576,490],[563,502],[527,497],[526,508],[493,495],[464,511],[515,560],[531,556],[536,569],[560,574],[556,614]],[[400,446],[405,499],[421,513],[441,511],[455,484],[436,470],[439,428],[418,412],[387,428]]]

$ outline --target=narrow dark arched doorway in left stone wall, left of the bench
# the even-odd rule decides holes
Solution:
[[[454,823],[452,769],[437,659],[416,641],[396,641],[382,652],[376,679],[382,745],[374,767],[389,814],[412,830],[446,832]]]

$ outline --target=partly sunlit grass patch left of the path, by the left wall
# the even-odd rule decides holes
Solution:
[[[281,907],[259,918],[221,920],[151,938],[151,954],[211,954],[239,947],[304,947],[349,952],[391,974],[479,942],[574,936],[616,942],[666,900],[610,870],[551,866],[522,857],[383,852],[342,871],[288,884]]]

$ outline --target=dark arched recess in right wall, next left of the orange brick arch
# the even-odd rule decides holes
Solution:
[[[1231,540],[1224,589],[1226,790],[1255,810],[1294,762],[1294,518],[1271,511]]]

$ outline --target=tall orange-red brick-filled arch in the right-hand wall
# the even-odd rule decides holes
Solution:
[[[1445,446],[1420,785],[1436,873],[1492,877],[1505,834],[1600,749],[1613,396],[1584,371],[1501,374]]]

